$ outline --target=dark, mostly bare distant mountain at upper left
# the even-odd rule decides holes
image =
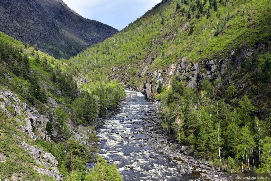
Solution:
[[[0,0],[0,31],[57,58],[76,55],[118,32],[81,17],[61,0]]]

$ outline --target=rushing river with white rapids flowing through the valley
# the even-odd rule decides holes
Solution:
[[[100,155],[109,164],[116,164],[124,181],[133,180],[191,180],[193,175],[179,174],[174,160],[157,154],[151,146],[157,144],[155,133],[144,128],[151,124],[151,102],[145,95],[126,90],[127,99],[100,128]],[[137,134],[134,132],[137,132]],[[155,132],[155,131],[154,131]],[[128,133],[129,138],[121,138]],[[147,135],[148,134],[148,135]],[[139,146],[143,144],[144,147]],[[157,157],[159,157],[157,159]],[[138,161],[137,161],[138,160]]]

